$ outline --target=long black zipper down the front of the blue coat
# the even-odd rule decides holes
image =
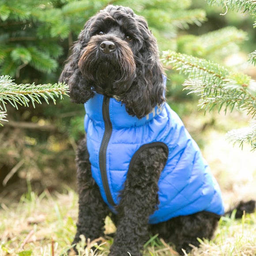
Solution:
[[[108,182],[107,168],[106,168],[107,147],[108,147],[110,136],[112,134],[112,124],[109,117],[109,100],[110,98],[104,96],[103,105],[102,105],[102,115],[103,115],[103,120],[105,124],[105,132],[102,138],[102,144],[99,152],[99,166],[100,166],[100,171],[102,175],[102,184],[105,190],[107,200],[110,205],[114,206],[115,203],[113,201],[113,198],[109,189],[109,182]]]

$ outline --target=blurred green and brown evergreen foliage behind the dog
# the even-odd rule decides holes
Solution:
[[[252,16],[237,11],[220,15],[225,8],[205,0],[0,0],[0,75],[11,75],[18,84],[56,83],[84,23],[107,4],[129,6],[143,15],[160,52],[170,49],[213,60],[256,77],[246,63],[255,50]],[[181,116],[197,109],[196,95],[187,95],[181,86],[186,76],[171,69],[166,73],[172,108]],[[9,122],[0,128],[0,192],[3,184],[26,179],[39,190],[58,189],[63,182],[72,186],[83,117],[83,105],[68,97],[35,109],[8,107]],[[214,123],[215,117],[207,125]]]

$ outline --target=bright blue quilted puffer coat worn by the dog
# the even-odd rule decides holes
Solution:
[[[158,181],[155,224],[180,215],[224,213],[220,188],[195,141],[168,104],[138,119],[115,98],[95,94],[85,103],[84,120],[91,170],[102,198],[115,213],[132,159],[144,147],[168,147],[168,159]],[[139,151],[138,151],[139,150]]]

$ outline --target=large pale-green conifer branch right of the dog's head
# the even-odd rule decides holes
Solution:
[[[234,74],[217,63],[173,51],[164,52],[162,60],[188,75],[184,90],[200,95],[201,108],[211,111],[217,106],[218,111],[224,108],[226,112],[237,106],[256,116],[256,82],[248,75]]]

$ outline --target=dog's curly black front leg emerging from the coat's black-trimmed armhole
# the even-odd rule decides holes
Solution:
[[[140,256],[143,244],[149,238],[148,218],[158,204],[158,179],[167,158],[162,146],[149,145],[131,161],[133,165],[120,193],[117,232],[110,256],[125,256],[128,252]]]

